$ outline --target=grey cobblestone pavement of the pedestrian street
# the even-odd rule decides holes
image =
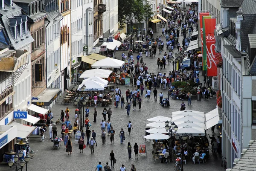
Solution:
[[[155,33],[156,36],[160,35],[161,32]],[[181,40],[182,41],[182,40]],[[117,52],[116,57],[121,58],[122,52]],[[159,55],[159,54],[158,54]],[[157,70],[156,61],[157,58],[145,58],[144,61],[148,66],[149,72],[157,73],[159,70]],[[159,56],[160,57],[160,56]],[[161,56],[162,57],[162,56]],[[163,72],[169,72],[169,70],[172,70],[172,65],[166,66],[166,69],[163,70]],[[162,72],[162,73],[163,73]],[[203,80],[201,78],[201,80]],[[122,90],[122,94],[125,95],[125,91],[127,88],[131,87],[124,87],[120,86]],[[158,89],[158,93],[160,93],[160,89]],[[163,91],[165,93],[165,97],[167,97],[167,91]],[[61,104],[62,101],[61,97],[58,99],[58,103],[55,104],[55,106],[52,108],[53,115],[55,116],[54,120],[58,119],[58,116],[61,113],[61,110],[65,110],[65,108],[68,106],[70,108],[70,118],[71,123],[74,122],[74,113],[75,113],[75,106],[72,105],[64,105]],[[142,110],[138,110],[138,105],[136,110],[131,110],[130,116],[127,116],[126,110],[124,108],[115,108],[112,106],[113,115],[111,116],[111,124],[116,131],[115,134],[115,143],[111,145],[109,137],[106,139],[106,144],[102,145],[102,141],[100,139],[100,121],[103,119],[103,116],[100,114],[102,113],[103,107],[97,107],[98,110],[98,116],[97,116],[97,122],[91,122],[92,126],[90,127],[90,130],[94,129],[95,132],[98,134],[98,137],[96,137],[96,141],[98,142],[98,146],[95,147],[95,154],[90,155],[90,148],[86,148],[84,150],[84,153],[79,153],[78,144],[74,140],[74,136],[72,138],[73,143],[73,153],[72,155],[68,156],[64,145],[61,145],[60,150],[54,150],[52,149],[53,143],[49,139],[48,132],[46,133],[47,138],[45,139],[45,142],[40,142],[40,137],[32,137],[30,138],[30,147],[32,150],[35,151],[35,157],[28,163],[28,171],[94,171],[96,165],[98,162],[102,162],[102,165],[104,166],[106,162],[110,162],[109,160],[109,154],[111,150],[114,151],[115,157],[117,159],[117,163],[115,165],[115,168],[112,168],[112,171],[119,171],[119,168],[122,164],[125,164],[125,167],[127,171],[130,170],[131,164],[134,164],[137,168],[137,171],[167,171],[167,170],[173,170],[174,163],[168,163],[163,164],[156,162],[154,163],[154,160],[152,159],[152,142],[145,142],[145,139],[143,136],[145,136],[145,125],[147,123],[150,123],[146,119],[162,115],[171,117],[172,112],[180,110],[180,100],[170,100],[170,107],[169,108],[163,108],[159,104],[159,99],[157,99],[157,102],[154,102],[154,97],[151,96],[150,101],[146,101],[146,99],[143,97],[143,103],[142,103]],[[187,101],[185,101],[185,104],[187,104]],[[198,110],[203,111],[204,113],[207,113],[211,110],[213,110],[216,107],[216,99],[215,97],[210,98],[209,101],[205,101],[204,99],[201,99],[201,101],[192,100],[192,106],[187,106],[187,110]],[[93,107],[90,107],[90,121],[93,120],[92,111]],[[128,129],[127,129],[127,123],[128,121],[131,121],[133,125],[133,130],[131,131],[131,135],[128,135]],[[119,139],[119,131],[121,128],[124,128],[126,134],[126,140],[124,144],[120,144]],[[61,125],[58,125],[58,130],[61,130]],[[218,132],[217,130],[215,132]],[[210,133],[210,130],[207,130],[207,133]],[[58,133],[58,136],[61,136],[60,133]],[[132,159],[128,159],[128,151],[127,151],[127,143],[131,142],[131,145],[133,146],[135,142],[137,142],[138,145],[145,144],[147,149],[147,155],[143,154],[139,157],[138,160],[134,159],[134,152],[132,151]],[[8,165],[0,165],[0,171],[9,171],[11,170]],[[212,155],[210,152],[210,158],[207,160],[207,163],[203,164],[192,164],[192,159],[189,159],[184,164],[184,171],[220,171],[224,170],[221,168],[221,157]]]

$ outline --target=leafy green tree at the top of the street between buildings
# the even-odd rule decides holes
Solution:
[[[120,27],[125,24],[141,23],[143,19],[149,19],[153,14],[151,6],[144,3],[144,0],[119,0],[118,21]]]

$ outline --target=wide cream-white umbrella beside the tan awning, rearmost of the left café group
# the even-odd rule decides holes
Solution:
[[[99,61],[96,61],[91,65],[92,68],[120,68],[125,64],[125,61],[121,61],[113,58],[105,58]]]

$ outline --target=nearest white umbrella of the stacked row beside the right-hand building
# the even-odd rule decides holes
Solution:
[[[177,133],[182,136],[183,134],[187,133],[188,136],[204,136],[204,128],[192,127],[186,125],[185,127],[179,127]]]

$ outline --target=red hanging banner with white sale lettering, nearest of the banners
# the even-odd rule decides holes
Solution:
[[[215,25],[216,18],[203,17],[204,32],[205,32],[205,45],[206,45],[206,56],[207,56],[207,76],[217,76],[217,67],[215,63]]]

